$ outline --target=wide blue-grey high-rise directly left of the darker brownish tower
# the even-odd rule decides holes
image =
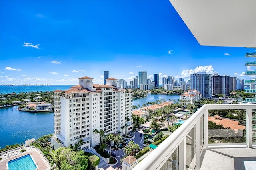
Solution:
[[[196,89],[203,97],[212,96],[212,75],[206,72],[190,74],[191,89]]]

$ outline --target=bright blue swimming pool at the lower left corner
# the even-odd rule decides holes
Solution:
[[[37,166],[29,154],[11,160],[7,164],[7,169],[9,170],[35,170],[36,168]]]

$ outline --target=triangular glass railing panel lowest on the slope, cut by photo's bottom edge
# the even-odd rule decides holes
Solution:
[[[160,170],[178,170],[178,148],[172,153]]]

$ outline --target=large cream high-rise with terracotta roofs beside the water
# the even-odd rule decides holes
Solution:
[[[132,90],[117,88],[115,78],[106,79],[106,85],[93,84],[92,80],[85,76],[69,90],[54,91],[54,149],[74,146],[80,139],[86,147],[94,147],[100,142],[95,129],[121,135],[132,131]],[[121,129],[126,124],[128,127]]]

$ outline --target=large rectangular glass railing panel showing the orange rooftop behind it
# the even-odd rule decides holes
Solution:
[[[210,110],[208,143],[245,143],[246,110]]]

